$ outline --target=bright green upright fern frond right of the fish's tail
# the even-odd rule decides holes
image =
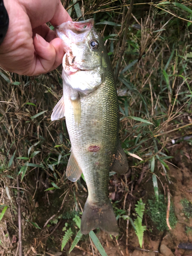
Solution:
[[[137,219],[134,221],[135,228],[136,228],[136,234],[139,240],[139,245],[142,248],[142,242],[143,242],[143,233],[146,230],[146,226],[142,226],[142,220],[143,220],[143,212],[145,209],[145,204],[140,199],[137,201],[137,204],[135,205],[135,211],[137,212]]]

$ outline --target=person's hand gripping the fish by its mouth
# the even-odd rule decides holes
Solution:
[[[0,66],[20,75],[39,75],[56,69],[64,55],[55,27],[72,20],[60,0],[4,0],[9,28],[0,46]]]

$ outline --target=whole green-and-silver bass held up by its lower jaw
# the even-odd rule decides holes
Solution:
[[[125,174],[128,163],[121,147],[117,89],[108,53],[94,19],[66,22],[56,28],[66,52],[62,60],[63,95],[51,120],[65,116],[71,141],[66,176],[83,173],[88,198],[81,233],[100,228],[114,236],[118,225],[109,199],[109,173]]]

